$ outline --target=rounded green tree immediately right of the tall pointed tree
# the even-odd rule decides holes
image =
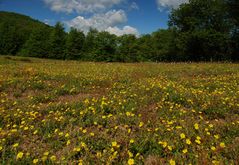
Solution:
[[[82,59],[83,45],[85,41],[85,35],[82,31],[78,31],[75,28],[71,28],[69,34],[66,37],[66,58],[67,59]]]

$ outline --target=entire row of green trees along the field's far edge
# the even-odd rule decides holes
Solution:
[[[189,0],[169,15],[168,29],[116,36],[90,29],[33,26],[29,34],[0,23],[0,54],[107,62],[239,61],[239,1]]]

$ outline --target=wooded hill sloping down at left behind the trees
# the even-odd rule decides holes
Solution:
[[[52,29],[29,16],[0,11],[0,54],[15,55],[36,28]]]

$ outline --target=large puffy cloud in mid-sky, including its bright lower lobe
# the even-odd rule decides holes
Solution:
[[[111,34],[118,36],[123,34],[138,35],[137,29],[125,26],[122,29],[117,25],[127,22],[127,16],[123,10],[111,10],[104,14],[95,14],[90,18],[78,16],[70,21],[66,21],[66,25],[74,27],[87,33],[90,28],[95,28],[99,31],[108,31]]]

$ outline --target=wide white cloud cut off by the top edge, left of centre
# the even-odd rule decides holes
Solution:
[[[53,11],[95,13],[118,5],[125,0],[43,0]]]

